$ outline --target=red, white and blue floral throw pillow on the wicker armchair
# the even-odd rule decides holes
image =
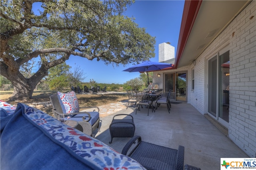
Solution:
[[[69,93],[58,91],[58,98],[64,114],[79,112],[78,99],[74,91]]]

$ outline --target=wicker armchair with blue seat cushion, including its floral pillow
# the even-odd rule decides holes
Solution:
[[[93,136],[92,132],[96,129],[100,131],[100,109],[96,106],[93,107],[79,107],[76,93],[55,93],[50,96],[52,102],[52,112],[54,117],[58,119],[60,116],[64,117],[65,121],[77,121],[78,126],[76,129]],[[94,109],[93,111],[82,111],[80,109]],[[94,137],[94,136],[93,136]]]

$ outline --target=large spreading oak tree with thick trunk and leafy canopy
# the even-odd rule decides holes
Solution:
[[[14,85],[9,100],[31,98],[48,69],[74,55],[117,65],[138,63],[155,55],[155,38],[139,28],[134,18],[123,15],[131,1],[0,2],[0,71]],[[42,10],[35,14],[38,2],[42,2]],[[22,67],[35,58],[39,60],[38,71],[24,77]]]

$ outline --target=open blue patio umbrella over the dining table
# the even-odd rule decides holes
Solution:
[[[156,70],[161,70],[165,69],[168,67],[172,67],[172,64],[169,63],[159,63],[155,61],[143,61],[142,63],[139,63],[137,65],[134,65],[128,69],[125,69],[123,71],[128,71],[128,72],[147,72],[148,71],[156,71]],[[149,85],[149,80],[148,80],[148,85]]]

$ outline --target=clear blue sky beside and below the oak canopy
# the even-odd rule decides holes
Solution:
[[[158,61],[158,45],[163,42],[170,42],[175,47],[176,55],[183,8],[184,0],[137,0],[127,8],[124,15],[134,17],[139,27],[146,28],[147,33],[156,37],[155,57],[150,61]],[[84,82],[94,79],[97,83],[123,84],[140,75],[122,71],[132,64],[116,67],[78,56],[70,56],[66,63],[72,68],[80,66],[86,76]]]

